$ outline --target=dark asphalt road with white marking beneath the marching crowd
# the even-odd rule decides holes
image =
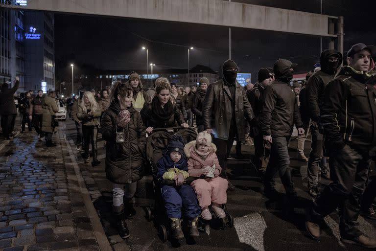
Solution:
[[[74,124],[66,122],[68,140],[74,147]],[[284,197],[284,189],[277,178],[277,190],[281,192],[280,199],[270,201],[263,193],[263,185],[255,169],[246,160],[229,160],[228,174],[235,185],[235,191],[228,192],[227,208],[234,218],[232,228],[220,228],[215,221],[211,227],[203,229],[200,236],[191,239],[184,238],[180,242],[167,240],[163,242],[158,235],[158,226],[145,217],[144,206],[154,206],[152,195],[151,177],[146,177],[139,183],[139,191],[136,198],[137,214],[134,219],[128,221],[131,237],[122,241],[117,235],[115,222],[111,216],[112,186],[105,178],[104,141],[98,140],[99,166],[83,164],[79,153],[75,151],[77,162],[85,178],[89,190],[98,189],[102,196],[94,196],[93,203],[101,218],[104,230],[113,245],[114,250],[132,251],[163,251],[178,248],[182,251],[322,251],[322,250],[349,250],[360,251],[360,247],[342,244],[339,236],[337,212],[333,212],[325,218],[326,226],[323,228],[319,240],[312,240],[305,231],[305,208],[311,204],[311,199],[306,189],[306,162],[295,160],[296,140],[290,143],[291,169],[294,184],[299,201],[291,205]],[[305,143],[305,152],[308,155],[310,141]],[[235,150],[235,149],[233,149]],[[250,159],[254,149],[252,146],[243,145],[245,159]],[[374,167],[373,167],[374,168]],[[371,173],[375,176],[375,172]],[[321,179],[323,186],[329,181]],[[359,217],[360,228],[369,236],[376,238],[376,221]],[[186,235],[188,236],[188,235]]]

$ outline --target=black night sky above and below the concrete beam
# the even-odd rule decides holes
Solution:
[[[233,0],[264,6],[320,13],[320,0]],[[362,6],[358,5],[361,2]],[[369,3],[367,5],[366,3]],[[367,7],[368,6],[368,7]],[[323,0],[323,14],[344,16],[345,51],[356,43],[376,44],[376,19],[370,10],[373,0]],[[280,32],[232,28],[233,59],[241,72],[256,73],[286,58],[298,63],[296,71],[313,70],[319,62],[320,38]],[[97,16],[55,15],[55,58],[86,64],[99,69],[144,69],[149,48],[149,63],[162,68],[188,68],[197,64],[217,71],[228,59],[228,28],[188,23]],[[328,40],[323,39],[323,48]],[[57,67],[56,73],[69,67]],[[149,68],[150,73],[150,68]]]

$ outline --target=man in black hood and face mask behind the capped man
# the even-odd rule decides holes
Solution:
[[[338,51],[323,51],[320,56],[321,70],[315,72],[313,76],[308,79],[305,87],[308,111],[312,120],[310,126],[312,143],[307,167],[308,193],[312,197],[316,197],[319,193],[319,163],[323,158],[323,125],[320,119],[320,108],[324,100],[325,87],[334,78],[341,62],[342,54]],[[322,166],[321,172],[327,174],[329,170],[326,170],[325,167]]]

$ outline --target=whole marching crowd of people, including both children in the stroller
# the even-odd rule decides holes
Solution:
[[[357,222],[360,212],[376,219],[372,205],[376,180],[369,182],[371,160],[376,156],[375,56],[376,46],[356,44],[348,50],[341,67],[343,55],[325,50],[321,68],[306,75],[304,86],[290,84],[297,65],[286,59],[277,60],[272,68],[259,69],[258,83],[245,88],[236,81],[238,67],[230,59],[223,64],[223,78],[214,83],[202,78],[197,88],[177,87],[160,77],[145,91],[140,76],[132,72],[127,81],[119,81],[100,94],[85,91],[67,100],[77,129],[76,147],[83,149],[85,163],[89,163],[91,144],[95,166],[100,163],[96,139],[102,134],[106,177],[113,183],[113,212],[120,236],[128,238],[126,219],[133,216],[130,201],[144,175],[147,135],[167,127],[191,128],[195,123],[196,140],[185,145],[175,136],[162,158],[155,160],[158,178],[171,181],[162,185],[162,197],[172,236],[179,239],[183,237],[182,211],[191,236],[198,235],[199,215],[211,220],[211,210],[218,218],[225,217],[221,205],[227,201],[227,190],[234,189],[226,168],[235,139],[245,142],[253,138],[253,162],[262,173],[265,196],[281,196],[275,189],[279,173],[287,199],[296,200],[288,152],[296,128],[298,156],[308,163],[307,190],[314,198],[305,223],[309,235],[319,238],[323,218],[338,207],[342,241],[376,248],[376,240],[363,234]],[[3,85],[0,92],[0,105],[7,107],[0,109],[6,138],[16,114],[9,96],[13,97],[17,88],[18,79],[12,89]],[[19,104],[22,131],[25,124],[31,130],[32,124],[39,137],[46,138],[47,146],[54,145],[54,95],[51,91],[44,97],[38,91],[32,97],[26,92]],[[308,132],[312,141],[307,158],[304,143]],[[331,180],[322,191],[320,175]],[[194,178],[190,184],[184,183],[188,177]]]

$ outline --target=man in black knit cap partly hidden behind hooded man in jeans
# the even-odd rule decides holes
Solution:
[[[250,136],[253,137],[255,145],[255,159],[253,163],[258,169],[266,168],[269,162],[270,144],[264,141],[262,130],[258,123],[258,117],[262,110],[262,93],[268,85],[273,83],[273,73],[268,68],[261,68],[258,71],[258,85],[247,92],[249,103],[256,119],[250,125]]]

